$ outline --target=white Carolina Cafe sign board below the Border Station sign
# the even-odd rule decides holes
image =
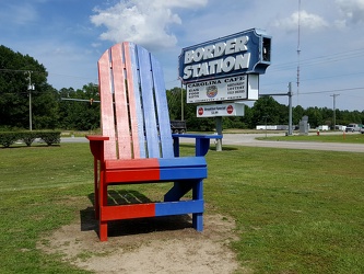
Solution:
[[[187,103],[258,100],[258,75],[187,83]]]

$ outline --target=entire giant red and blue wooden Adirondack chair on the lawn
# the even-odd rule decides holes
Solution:
[[[210,138],[172,135],[158,61],[144,48],[116,44],[98,60],[102,136],[86,136],[94,156],[94,209],[99,239],[107,222],[119,219],[192,214],[202,230],[204,155]],[[179,137],[196,138],[196,156],[179,157]],[[109,205],[109,185],[173,182],[161,202]],[[152,185],[151,185],[152,187]],[[180,198],[192,191],[192,198]]]

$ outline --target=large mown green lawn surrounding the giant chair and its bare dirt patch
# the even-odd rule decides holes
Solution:
[[[235,219],[231,248],[242,265],[364,273],[364,153],[224,146],[207,159],[207,214]],[[86,273],[36,243],[80,217],[92,164],[89,144],[0,149],[0,273]],[[146,196],[165,191],[133,187]]]

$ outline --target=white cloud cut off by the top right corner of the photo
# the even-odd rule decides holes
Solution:
[[[336,3],[342,15],[337,21],[341,26],[364,23],[364,0],[336,0]]]

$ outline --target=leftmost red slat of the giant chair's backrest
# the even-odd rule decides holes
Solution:
[[[113,88],[110,82],[110,60],[109,50],[106,50],[99,58],[98,62],[98,89],[101,95],[101,115],[102,115],[102,132],[104,136],[109,137],[109,140],[104,145],[104,158],[116,159],[115,144],[115,119],[114,119],[114,103]]]

